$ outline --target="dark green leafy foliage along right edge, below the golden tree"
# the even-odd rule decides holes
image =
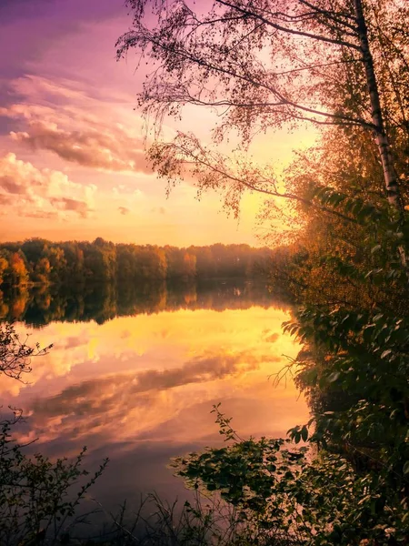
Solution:
[[[354,210],[358,221],[363,207]],[[398,258],[400,248],[409,248],[408,228],[383,215],[370,227],[361,264],[343,255],[323,258],[354,278],[363,293],[372,289],[372,301],[306,306],[284,329],[304,344],[296,381],[313,410],[309,440],[343,455],[364,484],[360,501],[371,497],[374,519],[363,522],[363,529],[374,543],[399,543],[409,536],[409,316],[399,301],[407,301],[408,286]],[[294,440],[300,432],[292,430]],[[395,513],[389,542],[374,535],[385,513]]]

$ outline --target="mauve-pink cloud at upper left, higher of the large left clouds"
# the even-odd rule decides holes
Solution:
[[[15,142],[51,151],[83,167],[152,174],[140,134],[120,123],[120,116],[113,118],[108,105],[87,96],[74,83],[28,75],[18,78],[14,86],[21,100],[0,108],[0,116],[21,127],[10,131]]]

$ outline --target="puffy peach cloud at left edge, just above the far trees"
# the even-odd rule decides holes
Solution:
[[[14,207],[17,216],[87,217],[95,189],[73,182],[61,171],[38,169],[15,154],[0,158],[0,203]]]

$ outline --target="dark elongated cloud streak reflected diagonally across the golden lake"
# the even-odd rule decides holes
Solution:
[[[204,354],[175,369],[148,369],[135,375],[119,374],[83,381],[70,385],[54,397],[36,399],[30,424],[35,429],[46,428],[46,436],[64,430],[71,438],[89,434],[90,430],[100,433],[102,428],[112,429],[113,424],[124,424],[124,420],[127,422],[135,412],[139,417],[154,412],[158,418],[156,424],[159,424],[164,419],[161,407],[165,409],[166,418],[180,410],[178,404],[173,410],[169,407],[168,402],[172,400],[173,404],[175,399],[174,395],[167,396],[166,390],[182,388],[178,396],[183,399],[183,388],[190,384],[238,378],[268,360],[276,360],[276,357],[254,356],[250,351]],[[143,420],[134,423],[133,433],[137,435],[145,430],[147,422],[150,427],[153,425],[145,415]]]

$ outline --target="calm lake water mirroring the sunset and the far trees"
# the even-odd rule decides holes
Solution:
[[[4,317],[54,349],[33,360],[30,384],[0,379],[1,399],[24,410],[20,440],[35,450],[112,462],[94,496],[108,509],[155,490],[183,497],[168,460],[220,442],[212,405],[242,436],[283,436],[307,420],[291,382],[274,387],[297,346],[283,335],[289,308],[251,283],[15,295]],[[285,356],[284,356],[285,355]]]

